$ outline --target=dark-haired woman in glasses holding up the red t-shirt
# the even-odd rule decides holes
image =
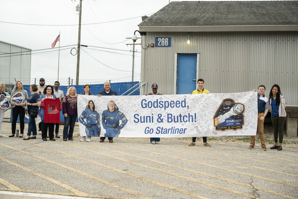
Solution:
[[[40,96],[37,106],[41,107],[42,103],[46,98],[56,98],[56,95],[54,95],[54,89],[51,85],[47,85],[44,89],[44,94]],[[61,101],[61,98],[59,98]],[[43,141],[47,141],[46,135],[49,128],[49,138],[51,141],[55,141],[54,138],[54,126],[55,123],[44,123],[44,109],[40,108],[38,115],[41,117],[41,137]]]

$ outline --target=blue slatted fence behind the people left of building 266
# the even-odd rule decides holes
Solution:
[[[117,92],[118,95],[122,95],[124,92],[126,92],[127,90],[129,90],[131,87],[135,86],[136,84],[138,84],[138,81],[134,81],[134,82],[117,82],[117,83],[111,83],[111,90],[114,90]],[[15,85],[11,85],[11,90],[13,90]],[[24,90],[27,91],[28,96],[31,95],[30,92],[30,85],[23,85]],[[71,85],[71,87],[75,87],[77,94],[81,94],[84,91],[84,85]],[[97,95],[98,93],[100,93],[100,91],[104,90],[103,84],[90,84],[90,91],[93,95]],[[132,92],[134,89],[136,89],[138,86],[134,87],[132,90],[128,91],[127,93],[125,93],[125,95],[128,95],[130,92]],[[66,96],[67,93],[67,86],[60,86],[59,90],[62,90],[64,93],[64,96]],[[140,89],[137,89],[136,91],[134,91],[133,93],[131,93],[131,95],[140,95]],[[13,111],[11,109],[10,112],[10,122],[13,121]],[[60,121],[64,122],[64,115],[62,113],[62,111],[60,111]],[[18,120],[17,122],[20,122],[20,117],[18,116]],[[28,119],[25,117],[24,119],[25,123],[28,123]]]

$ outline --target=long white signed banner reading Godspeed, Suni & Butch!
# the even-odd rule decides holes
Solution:
[[[256,135],[257,130],[257,92],[253,91],[78,95],[77,105],[81,136],[208,137]]]

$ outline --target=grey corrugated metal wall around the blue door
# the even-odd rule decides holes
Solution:
[[[150,47],[171,37],[171,47]],[[147,32],[142,36],[141,80],[159,92],[174,90],[175,53],[200,53],[199,77],[213,93],[244,92],[278,84],[288,106],[298,106],[298,32]],[[147,93],[150,92],[150,86]]]

